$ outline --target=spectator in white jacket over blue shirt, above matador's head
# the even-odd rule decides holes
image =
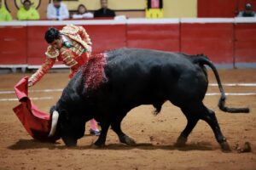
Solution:
[[[47,7],[47,19],[49,20],[65,20],[69,19],[67,6],[61,0],[53,0]]]

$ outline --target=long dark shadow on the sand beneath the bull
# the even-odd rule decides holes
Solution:
[[[150,143],[139,143],[135,146],[128,146],[125,144],[107,144],[102,148],[95,148],[92,145],[79,145],[73,147],[67,147],[61,143],[43,143],[34,139],[20,139],[15,144],[12,144],[8,147],[9,150],[31,150],[31,149],[42,149],[48,148],[49,150],[132,150],[132,149],[141,149],[141,150],[216,150],[212,147],[212,144],[209,143],[197,143],[197,144],[186,144],[183,147],[177,147],[175,144],[150,144]]]

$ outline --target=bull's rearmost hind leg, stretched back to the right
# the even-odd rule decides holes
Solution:
[[[207,109],[205,105],[202,105],[202,110],[203,111],[201,112],[200,118],[210,125],[215,135],[215,138],[217,139],[218,144],[220,144],[222,150],[230,151],[230,145],[228,144],[227,139],[224,137],[220,130],[214,111]]]

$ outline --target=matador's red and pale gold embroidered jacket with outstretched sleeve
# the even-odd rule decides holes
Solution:
[[[64,42],[62,48],[60,50],[52,46],[47,48],[44,64],[29,78],[32,85],[44,77],[56,60],[70,67],[69,78],[72,78],[79,67],[88,61],[91,42],[84,27],[64,26],[60,32]]]

